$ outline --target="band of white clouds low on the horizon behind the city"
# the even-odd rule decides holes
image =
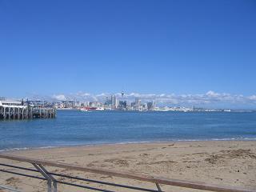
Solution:
[[[228,109],[256,109],[256,95],[243,95],[243,94],[228,94],[217,93],[212,90],[203,94],[140,94],[128,93],[126,91],[118,93],[102,93],[91,94],[88,92],[78,91],[71,94],[52,94],[52,95],[39,95],[30,94],[24,95],[21,98],[13,97],[10,99],[17,100],[22,98],[30,98],[32,100],[45,100],[50,102],[60,101],[78,101],[78,102],[106,102],[107,98],[115,96],[118,100],[126,100],[127,102],[134,102],[136,98],[142,102],[155,102],[158,106],[198,106],[212,109],[228,108]],[[1,95],[6,96],[6,95]],[[8,97],[6,97],[8,98]]]

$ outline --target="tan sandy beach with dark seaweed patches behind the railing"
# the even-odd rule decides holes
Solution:
[[[8,151],[28,158],[40,158],[53,162],[65,162],[99,169],[149,174],[158,177],[205,182],[224,186],[256,190],[256,142],[255,141],[208,141],[208,142],[158,142],[140,144],[115,144],[102,146],[75,146],[52,149]],[[2,163],[33,168],[24,162],[0,159]],[[107,182],[146,186],[154,184],[107,175],[70,171],[46,166],[50,171],[93,178]],[[5,168],[14,170],[13,168]],[[24,171],[20,171],[25,173]],[[73,182],[71,180],[66,180]],[[0,183],[22,191],[46,191],[46,183],[34,178],[24,178],[0,173]],[[120,188],[102,186],[90,182],[76,182],[102,189],[120,191]],[[79,190],[73,186],[58,186],[59,191]],[[122,191],[131,191],[121,189]],[[164,186],[162,190],[195,191],[181,187]]]

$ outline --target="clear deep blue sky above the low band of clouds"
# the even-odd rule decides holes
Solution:
[[[0,0],[0,95],[256,94],[255,1]]]

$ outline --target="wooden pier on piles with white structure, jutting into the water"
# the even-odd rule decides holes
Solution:
[[[0,101],[0,119],[55,118],[56,110],[52,107],[24,105],[23,102]]]

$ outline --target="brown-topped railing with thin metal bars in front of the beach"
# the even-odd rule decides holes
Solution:
[[[70,182],[58,181],[58,179],[54,178],[54,176],[62,177],[62,178],[71,178],[71,179],[76,179],[76,180],[86,181],[86,182],[94,182],[94,183],[99,183],[107,186],[116,186],[116,187],[131,189],[131,190],[142,190],[142,191],[150,191],[150,192],[163,191],[160,187],[160,184],[169,185],[169,186],[181,186],[181,187],[197,189],[197,190],[210,190],[210,191],[216,191],[216,192],[253,192],[254,191],[254,190],[238,189],[234,187],[232,188],[228,186],[207,185],[206,183],[202,183],[202,182],[189,182],[185,180],[159,178],[159,177],[153,177],[153,176],[148,176],[143,174],[131,174],[131,173],[118,172],[113,170],[94,169],[90,167],[75,166],[75,165],[60,163],[60,162],[50,162],[50,161],[40,160],[36,158],[24,158],[24,157],[14,156],[10,154],[0,154],[0,158],[6,158],[14,161],[31,163],[36,169],[30,169],[30,168],[25,168],[21,166],[12,166],[12,165],[7,165],[3,163],[0,163],[0,166],[7,166],[7,167],[16,168],[19,170],[28,170],[28,171],[38,172],[42,174],[43,177],[38,177],[30,174],[21,174],[21,173],[17,173],[10,170],[0,169],[0,171],[10,173],[10,174],[18,174],[18,175],[26,176],[30,178],[38,178],[38,179],[46,180],[48,184],[48,192],[52,192],[52,191],[57,192],[58,191],[57,183],[70,185],[70,186],[77,186],[77,187],[90,189],[90,190],[113,192],[110,190],[102,190],[102,189],[98,189],[91,186],[84,186],[84,185],[78,185]],[[94,174],[105,174],[105,175],[119,177],[119,178],[130,178],[130,179],[144,181],[144,182],[153,182],[157,186],[157,190],[146,189],[146,188],[141,188],[136,186],[120,185],[112,182],[102,182],[102,181],[97,181],[97,180],[87,179],[87,178],[72,177],[65,174],[51,173],[51,172],[48,172],[44,166],[54,166],[54,167],[65,168],[69,170],[79,170],[79,171],[90,172]]]

